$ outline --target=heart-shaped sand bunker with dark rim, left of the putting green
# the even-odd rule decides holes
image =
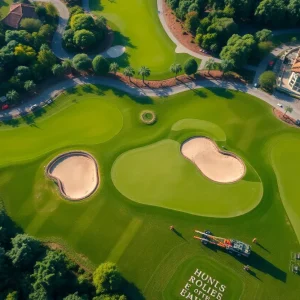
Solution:
[[[57,156],[49,163],[46,171],[57,182],[61,194],[70,200],[90,196],[100,181],[96,160],[81,151]]]

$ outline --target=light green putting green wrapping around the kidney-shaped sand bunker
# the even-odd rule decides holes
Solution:
[[[112,169],[115,186],[133,201],[202,216],[233,217],[258,205],[262,185],[250,166],[252,180],[216,183],[183,157],[180,146],[163,140],[121,155]]]

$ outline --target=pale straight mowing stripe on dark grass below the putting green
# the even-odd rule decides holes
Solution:
[[[107,261],[118,262],[125,249],[132,241],[139,228],[141,227],[143,221],[138,218],[133,218],[125,229],[124,233],[120,237],[119,241],[116,243],[115,247],[110,251]]]

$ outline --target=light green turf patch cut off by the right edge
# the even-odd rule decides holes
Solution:
[[[270,145],[281,199],[300,240],[299,133],[280,136]]]

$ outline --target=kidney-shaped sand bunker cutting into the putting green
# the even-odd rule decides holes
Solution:
[[[187,140],[181,147],[181,153],[213,181],[230,183],[245,175],[243,161],[232,153],[219,150],[209,138],[196,137]]]

